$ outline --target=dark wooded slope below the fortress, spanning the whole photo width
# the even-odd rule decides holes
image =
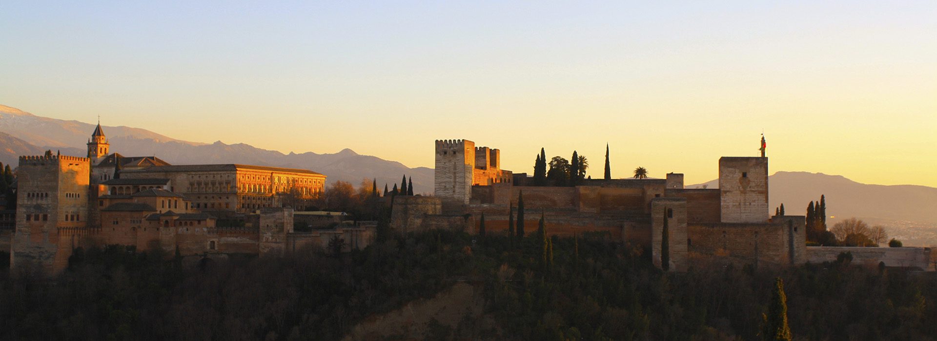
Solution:
[[[512,247],[504,234],[394,235],[334,257],[231,257],[185,263],[111,246],[76,253],[45,278],[0,271],[2,339],[339,339],[357,322],[458,278],[483,291],[496,330],[439,327],[475,339],[768,338],[778,330],[778,281],[796,339],[932,340],[937,278],[868,268],[850,257],[757,271],[746,266],[662,272],[647,252],[607,235],[544,238]],[[186,260],[187,261],[187,260]],[[786,335],[781,329],[781,335]],[[388,338],[402,336],[388,335]]]

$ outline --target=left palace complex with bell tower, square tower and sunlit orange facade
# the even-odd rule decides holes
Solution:
[[[245,164],[171,165],[156,157],[110,153],[100,124],[87,157],[22,156],[10,264],[49,272],[72,250],[120,244],[168,254],[280,255],[325,247],[364,248],[374,226],[298,233],[289,202],[324,190],[325,176],[304,169]]]

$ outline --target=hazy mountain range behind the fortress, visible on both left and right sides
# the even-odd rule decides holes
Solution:
[[[95,125],[80,121],[44,118],[14,107],[0,106],[0,162],[17,164],[20,155],[37,155],[47,149],[66,155],[85,155],[84,148]],[[351,149],[336,153],[284,154],[243,143],[206,144],[183,141],[141,128],[104,126],[111,151],[126,156],[156,156],[173,164],[247,163],[309,169],[328,176],[329,181],[349,181],[355,186],[364,178],[378,181],[379,191],[387,183],[393,188],[401,177],[413,179],[414,192],[433,192],[433,169],[410,168],[403,163],[361,155]],[[769,177],[772,209],[784,204],[790,215],[804,214],[807,204],[826,197],[829,226],[842,218],[857,217],[900,231],[910,244],[937,245],[937,188],[915,185],[871,185],[841,176],[807,172],[777,172]],[[718,180],[687,188],[719,187]],[[909,243],[906,243],[906,245]]]

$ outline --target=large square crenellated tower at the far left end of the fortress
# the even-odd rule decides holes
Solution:
[[[87,229],[90,160],[21,156],[17,168],[16,233],[10,265],[64,269],[73,237]]]

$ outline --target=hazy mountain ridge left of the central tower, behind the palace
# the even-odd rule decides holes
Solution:
[[[403,163],[360,155],[351,149],[333,154],[284,154],[243,143],[229,145],[221,141],[213,144],[182,141],[139,128],[103,128],[111,142],[111,151],[126,156],[156,155],[173,164],[247,163],[302,168],[325,174],[330,182],[349,181],[355,186],[363,178],[376,178],[379,191],[383,191],[384,183],[393,188],[394,183],[399,184],[401,177],[406,174],[413,178],[415,192],[433,192],[433,169],[409,168]],[[17,108],[0,106],[0,132],[7,133],[0,135],[0,149],[10,150],[0,155],[0,161],[15,165],[17,155],[39,154],[46,149],[84,156],[85,143],[94,129],[95,125],[89,123],[43,118]],[[7,154],[9,159],[3,159],[7,158]]]

